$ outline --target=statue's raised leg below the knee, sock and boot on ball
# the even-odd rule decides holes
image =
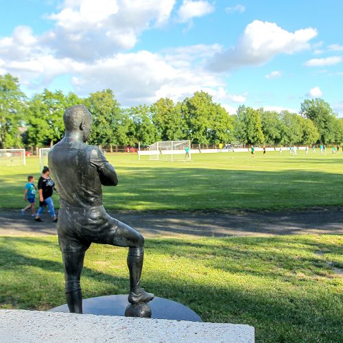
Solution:
[[[128,296],[128,301],[131,304],[148,303],[154,298],[154,294],[145,292],[140,285],[143,260],[143,248],[129,248],[128,269],[130,272],[130,294]]]

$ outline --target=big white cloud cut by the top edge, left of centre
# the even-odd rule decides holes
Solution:
[[[95,60],[137,44],[141,33],[169,20],[176,0],[66,0],[48,16],[56,27],[42,40],[56,56]]]

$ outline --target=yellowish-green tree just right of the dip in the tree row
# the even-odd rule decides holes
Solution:
[[[237,137],[239,140],[248,144],[260,144],[264,142],[259,110],[239,106],[237,109],[236,123],[238,125],[236,133],[239,134],[239,137]]]

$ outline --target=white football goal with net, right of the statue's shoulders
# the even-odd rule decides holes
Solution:
[[[191,141],[158,141],[139,150],[141,156],[149,156],[150,161],[191,161]]]

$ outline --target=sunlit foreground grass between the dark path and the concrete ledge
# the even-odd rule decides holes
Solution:
[[[65,303],[57,237],[0,237],[0,307]],[[250,324],[257,341],[342,342],[342,237],[149,239],[143,286],[205,322]],[[93,245],[84,298],[128,293],[126,249]]]

